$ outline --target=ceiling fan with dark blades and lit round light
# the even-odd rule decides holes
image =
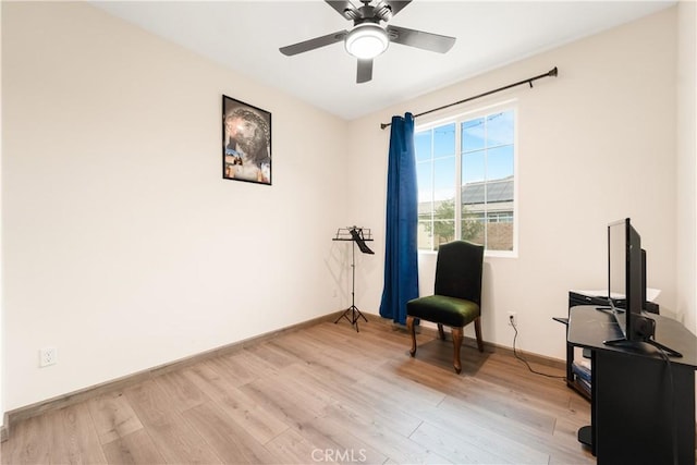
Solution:
[[[375,5],[370,4],[371,0],[360,0],[363,5],[358,8],[350,0],[325,1],[344,19],[353,21],[353,28],[281,47],[281,53],[291,57],[343,40],[346,51],[358,59],[356,82],[366,83],[372,78],[372,59],[387,50],[390,42],[439,53],[445,53],[455,44],[455,37],[380,24],[390,21],[412,0],[378,0]]]

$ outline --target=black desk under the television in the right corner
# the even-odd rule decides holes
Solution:
[[[595,305],[570,310],[567,343],[589,350],[592,364],[591,425],[578,430],[578,440],[598,465],[695,463],[697,336],[678,321],[651,318],[656,336],[682,358],[639,343],[607,345],[617,335],[612,315]]]

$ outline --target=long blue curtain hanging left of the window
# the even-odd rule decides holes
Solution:
[[[406,302],[418,297],[414,117],[392,117],[388,161],[384,287],[380,316],[406,323]]]

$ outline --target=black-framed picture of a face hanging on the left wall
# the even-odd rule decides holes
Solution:
[[[225,95],[222,178],[271,185],[271,113]]]

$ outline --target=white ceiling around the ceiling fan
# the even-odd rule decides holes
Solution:
[[[320,0],[93,1],[130,23],[346,120],[674,3],[415,0],[390,24],[454,36],[455,46],[440,54],[392,44],[376,58],[372,81],[356,84],[356,60],[341,42],[295,57],[279,52],[279,47],[351,27],[352,23]],[[550,69],[554,65],[550,63]]]

